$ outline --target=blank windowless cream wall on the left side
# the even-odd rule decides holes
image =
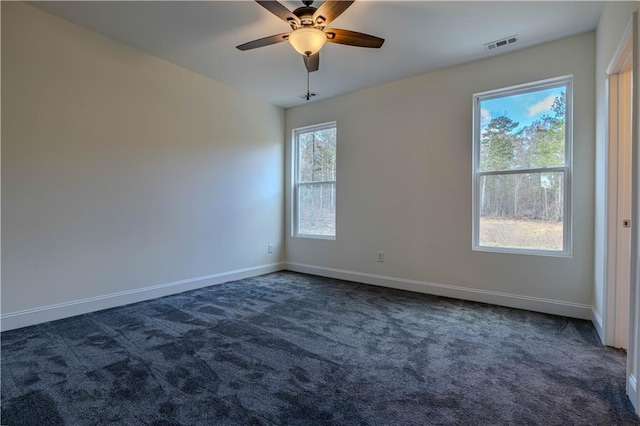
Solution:
[[[2,2],[2,124],[4,329],[282,266],[280,108]]]

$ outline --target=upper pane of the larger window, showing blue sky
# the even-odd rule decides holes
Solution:
[[[480,170],[565,165],[566,86],[480,101]]]

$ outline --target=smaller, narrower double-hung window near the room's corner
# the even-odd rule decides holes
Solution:
[[[295,236],[336,237],[336,123],[305,127],[294,136]]]

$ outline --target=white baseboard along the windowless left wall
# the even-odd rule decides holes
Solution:
[[[195,290],[229,281],[255,277],[270,272],[281,271],[283,269],[285,269],[284,262],[271,263],[206,275],[203,277],[189,278],[171,283],[158,284],[135,290],[90,297],[87,299],[72,300],[70,302],[42,306],[34,309],[10,312],[0,316],[0,330],[7,331],[15,328],[27,327],[47,321],[54,321],[103,309],[115,308],[117,306],[169,296],[171,294],[182,293],[184,291]]]

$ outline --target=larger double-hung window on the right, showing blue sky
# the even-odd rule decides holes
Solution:
[[[473,249],[571,255],[572,78],[474,96]]]

